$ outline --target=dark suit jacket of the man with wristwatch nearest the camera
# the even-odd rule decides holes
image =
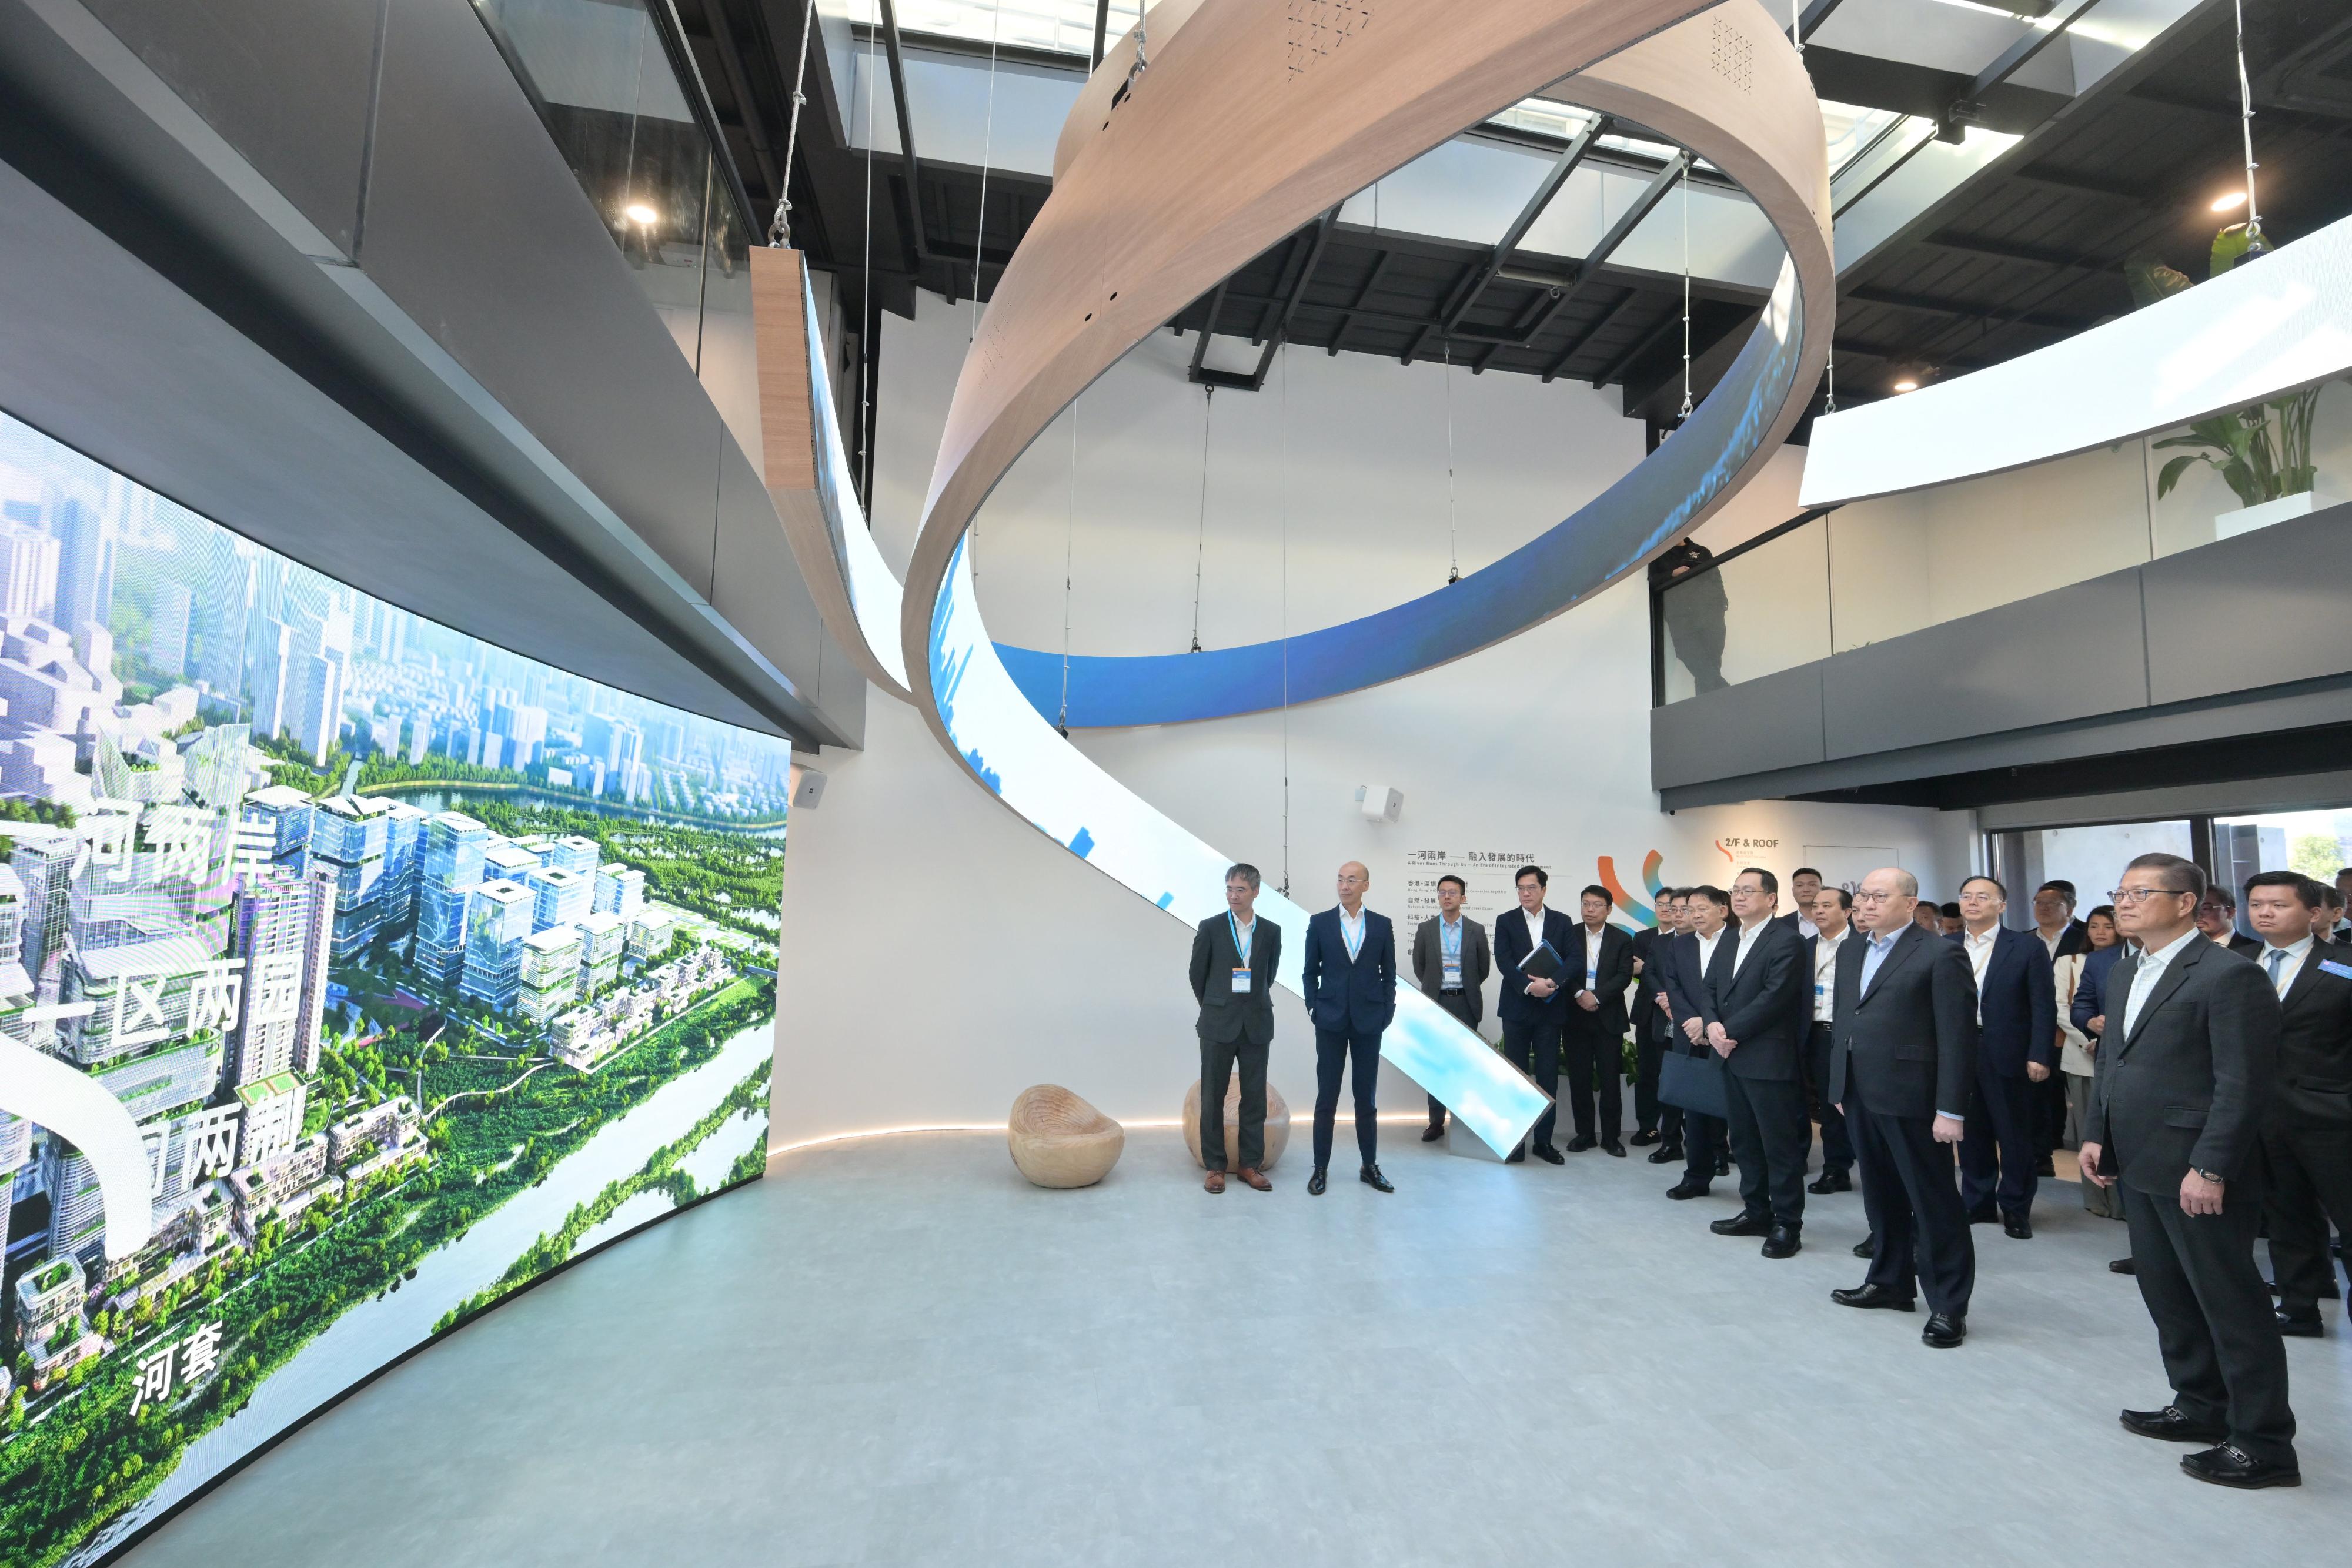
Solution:
[[[2279,997],[2260,964],[2199,936],[2157,978],[2133,1030],[2140,954],[2107,980],[2112,1011],[2084,1133],[2126,1187],[2171,1197],[2190,1166],[2239,1180],[2279,1079]]]

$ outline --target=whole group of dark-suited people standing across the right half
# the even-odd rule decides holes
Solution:
[[[2037,1086],[2051,1079],[2060,1048],[2051,964],[2072,931],[2056,922],[2044,931],[2004,929],[2009,893],[1992,877],[1962,884],[1959,933],[1931,931],[1917,919],[1919,884],[1900,867],[1870,872],[1851,893],[1802,870],[1792,877],[1797,910],[1785,917],[1778,879],[1762,867],[1740,870],[1729,891],[1663,889],[1658,931],[1639,936],[1609,924],[1606,889],[1585,889],[1581,919],[1571,922],[1545,907],[1550,879],[1541,867],[1522,867],[1515,882],[1519,907],[1496,919],[1489,943],[1461,912],[1463,882],[1444,877],[1439,914],[1414,933],[1414,978],[1477,1027],[1482,983],[1489,971],[1501,976],[1501,1051],[1536,1084],[1564,1084],[1573,1117],[1566,1152],[1602,1147],[1625,1157],[1618,1053],[1632,990],[1632,1143],[1661,1145],[1651,1154],[1658,1164],[1684,1159],[1668,1197],[1705,1194],[1726,1173],[1729,1145],[1740,1213],[1712,1229],[1762,1237],[1764,1258],[1792,1258],[1802,1251],[1806,1192],[1849,1190],[1858,1173],[1870,1239],[1856,1253],[1870,1269],[1832,1300],[1915,1312],[1926,1295],[1922,1340],[1936,1349],[1962,1345],[1976,1284],[1971,1222],[1999,1220],[2009,1237],[2032,1237],[2046,1159],[2034,1131]],[[1392,1192],[1376,1161],[1374,1084],[1381,1032],[1395,1013],[1397,952],[1390,922],[1362,907],[1367,886],[1359,863],[1343,865],[1338,907],[1308,922],[1312,1194],[1327,1185],[1350,1067],[1362,1180]],[[1223,1192],[1223,1098],[1240,1065],[1237,1175],[1263,1192],[1265,1051],[1282,933],[1251,912],[1254,867],[1235,865],[1225,891],[1228,912],[1202,922],[1192,945],[1202,1164],[1209,1192]],[[2100,969],[2093,1001],[2117,1020],[2091,1020],[2105,1044],[2082,1117],[2082,1173],[2131,1192],[2131,1272],[2173,1385],[2173,1403],[2124,1410],[2122,1425],[2211,1443],[2185,1455],[2183,1469],[2237,1488],[2300,1483],[2281,1326],[2296,1309],[2314,1309],[2300,1295],[2317,1295],[2314,1276],[2328,1276],[2328,1218],[2352,1220],[2352,964],[2326,957],[2338,950],[2312,929],[2324,907],[2314,893],[2324,889],[2293,872],[2256,877],[2249,903],[2265,940],[2213,936],[2199,929],[2204,872],[2178,856],[2138,856],[2112,905],[2126,943]],[[2079,1020],[2082,999],[2070,1001]],[[2288,1018],[2288,1093],[2284,1114],[2272,1114]],[[1661,1079],[1675,1053],[1715,1065],[1700,1077],[1719,1079],[1722,1117],[1698,1110],[1705,1095],[1689,1086],[1682,1107],[1663,1103]],[[1444,1114],[1432,1098],[1423,1138],[1442,1135]],[[1564,1164],[1555,1119],[1557,1105],[1545,1107],[1529,1147]],[[1813,1121],[1823,1173],[1809,1187]],[[2270,1307],[2253,1262],[2274,1173],[2296,1197],[2284,1222],[2272,1218],[2274,1267],[2288,1291],[2281,1309]]]

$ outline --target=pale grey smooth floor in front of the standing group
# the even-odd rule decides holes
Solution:
[[[1343,1128],[1345,1135],[1345,1128]],[[433,1347],[127,1561],[2166,1563],[2352,1533],[2347,1335],[2288,1340],[2300,1490],[2114,1422],[2164,1403],[2124,1227],[2044,1187],[1978,1227],[1957,1352],[1849,1312],[1853,1194],[1766,1262],[1602,1152],[1494,1166],[1383,1128],[1305,1194],[1207,1197],[1174,1131],[1028,1187],[997,1135],[783,1157]]]

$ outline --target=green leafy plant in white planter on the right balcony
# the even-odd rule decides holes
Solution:
[[[2232,223],[2213,237],[2209,275],[2218,277],[2265,249],[2258,228]],[[2187,273],[2161,261],[2136,259],[2124,270],[2131,277],[2131,296],[2140,306],[2192,287]],[[2336,505],[2336,496],[2324,496],[2317,489],[2319,468],[2312,463],[2312,416],[2317,409],[2319,388],[2310,386],[2286,397],[2199,418],[2187,428],[2187,435],[2164,437],[2157,449],[2178,447],[2183,451],[2157,470],[2157,498],[2169,496],[2180,484],[2180,475],[2197,463],[2218,470],[2241,505],[2213,520],[2213,538],[2234,538]]]

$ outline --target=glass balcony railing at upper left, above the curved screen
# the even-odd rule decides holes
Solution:
[[[659,0],[656,0],[659,2]],[[703,390],[757,456],[748,247],[764,219],[715,150],[649,0],[473,0]]]

